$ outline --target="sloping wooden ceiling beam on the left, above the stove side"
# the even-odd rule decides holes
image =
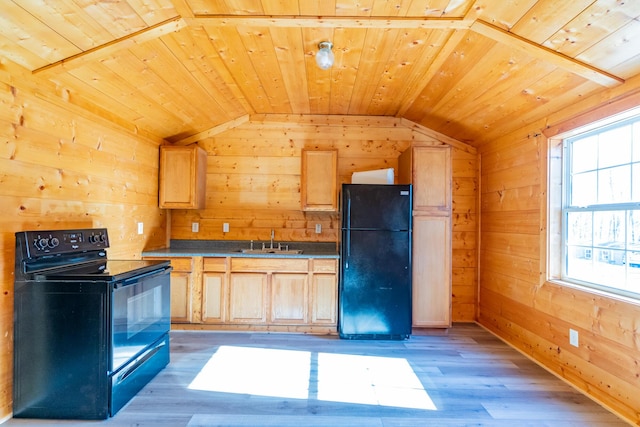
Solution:
[[[117,52],[122,49],[133,47],[134,45],[144,43],[146,41],[156,39],[165,34],[175,32],[187,25],[186,21],[181,16],[175,16],[160,22],[150,27],[144,28],[140,31],[128,34],[119,39],[104,43],[100,46],[93,47],[84,52],[72,55],[68,58],[62,59],[53,64],[45,65],[44,67],[33,70],[33,74],[40,74],[52,71],[59,71],[60,69],[69,70],[72,68],[80,67],[90,61],[95,61],[98,58],[103,58],[110,53]]]

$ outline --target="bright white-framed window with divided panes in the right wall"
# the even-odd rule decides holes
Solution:
[[[560,278],[640,298],[640,116],[566,137],[561,155]]]

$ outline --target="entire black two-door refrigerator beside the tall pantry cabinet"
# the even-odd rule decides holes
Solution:
[[[411,185],[342,185],[340,338],[411,335],[411,199]]]

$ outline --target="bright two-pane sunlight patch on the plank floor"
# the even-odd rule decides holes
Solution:
[[[436,410],[406,359],[221,346],[190,389],[255,396],[308,399],[317,381],[317,399],[329,402]]]

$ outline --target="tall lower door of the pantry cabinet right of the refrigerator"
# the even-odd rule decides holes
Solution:
[[[451,326],[451,219],[413,218],[413,325]]]

